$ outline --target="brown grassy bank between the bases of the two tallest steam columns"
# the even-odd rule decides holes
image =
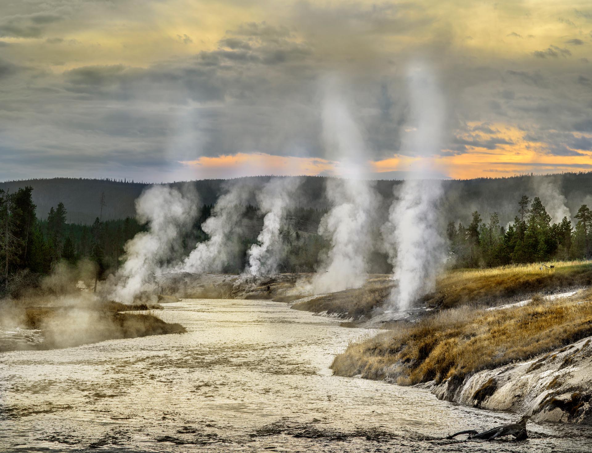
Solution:
[[[369,279],[361,288],[331,293],[292,306],[295,310],[338,314],[341,317],[361,320],[372,316],[372,311],[382,306],[394,283],[390,278]]]

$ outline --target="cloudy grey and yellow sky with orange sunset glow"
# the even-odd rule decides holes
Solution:
[[[343,175],[327,90],[373,178],[592,171],[592,4],[2,0],[0,181]]]

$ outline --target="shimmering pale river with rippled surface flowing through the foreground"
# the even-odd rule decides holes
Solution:
[[[516,416],[416,388],[333,377],[367,331],[255,300],[184,300],[185,335],[0,354],[0,451],[590,451],[592,430],[531,424],[525,442],[443,441]]]

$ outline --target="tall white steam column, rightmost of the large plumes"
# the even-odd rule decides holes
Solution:
[[[411,115],[414,128],[406,140],[407,152],[432,156],[440,151],[443,123],[443,99],[432,72],[424,66],[408,75]],[[420,159],[425,160],[425,159]],[[422,165],[420,177],[430,168]],[[394,268],[397,285],[391,303],[408,309],[413,301],[435,285],[437,272],[446,258],[446,243],[440,236],[438,204],[442,184],[438,180],[409,179],[389,210],[388,222],[382,227],[385,247]]]

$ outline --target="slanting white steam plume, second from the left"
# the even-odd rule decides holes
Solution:
[[[218,198],[211,216],[201,228],[210,236],[197,244],[181,265],[175,270],[184,272],[221,272],[236,251],[236,237],[240,233],[240,222],[244,209],[252,195],[246,184],[234,184]]]

